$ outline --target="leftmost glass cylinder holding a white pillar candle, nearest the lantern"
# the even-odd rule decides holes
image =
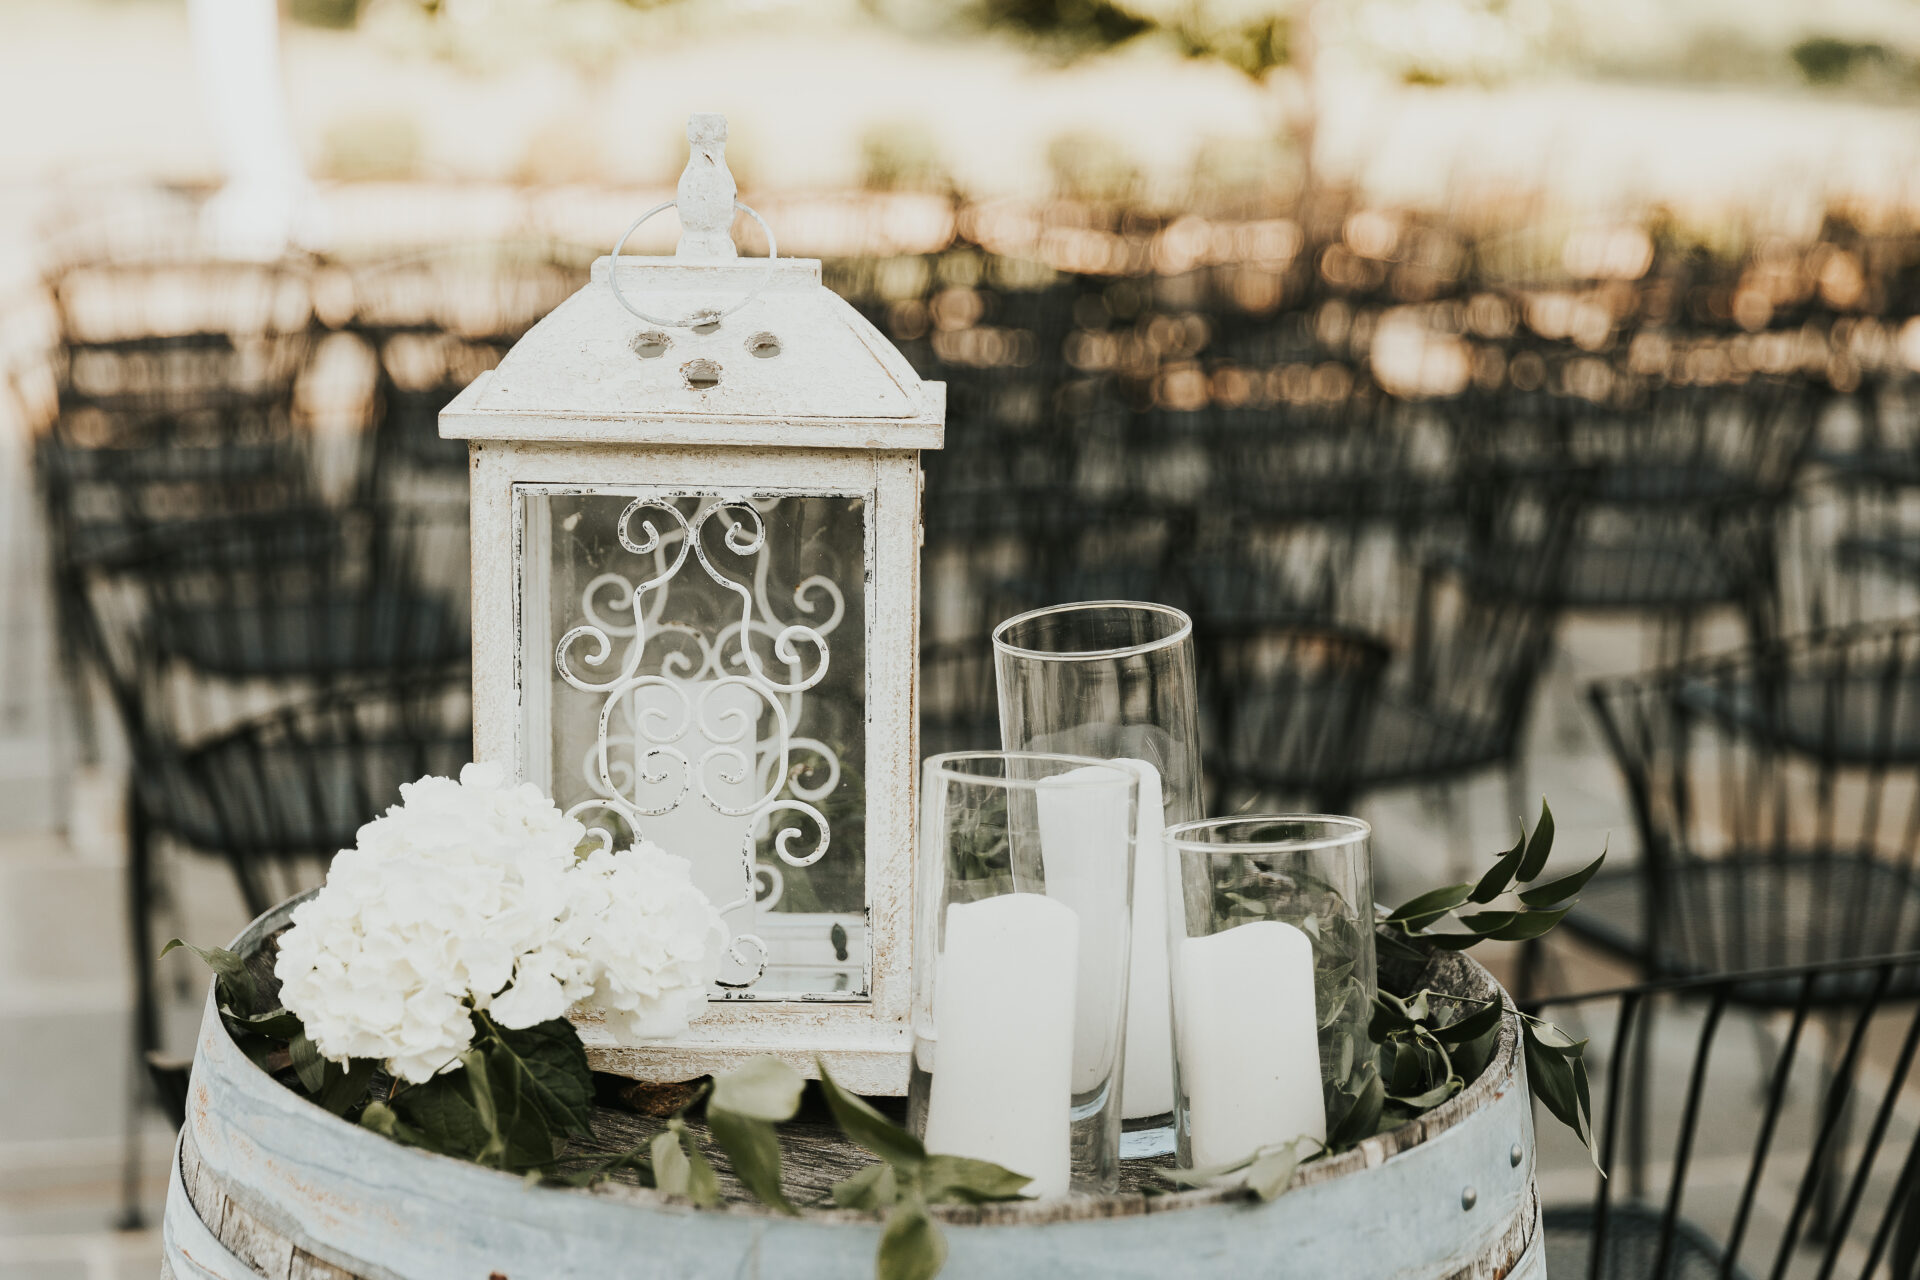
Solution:
[[[914,1132],[1031,1196],[1112,1194],[1139,775],[1033,752],[924,768]]]

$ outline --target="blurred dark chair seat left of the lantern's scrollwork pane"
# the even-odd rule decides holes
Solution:
[[[324,676],[432,666],[467,652],[449,601],[419,591],[161,608],[154,645],[217,676]]]

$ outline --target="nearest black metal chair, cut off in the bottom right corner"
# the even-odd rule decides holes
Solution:
[[[1908,1086],[1920,1006],[1897,992],[1914,973],[1920,954],[1908,952],[1523,1004],[1592,1036],[1597,1161],[1609,1173],[1645,1142],[1626,1090],[1644,1071],[1655,1004],[1672,1036],[1655,1050],[1672,1080],[1651,1126],[1663,1184],[1597,1176],[1590,1201],[1549,1203],[1548,1274],[1910,1280],[1920,1267],[1920,1113]],[[1770,1061],[1722,1042],[1726,1013],[1753,988],[1778,990],[1789,1011]]]

